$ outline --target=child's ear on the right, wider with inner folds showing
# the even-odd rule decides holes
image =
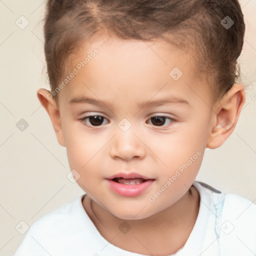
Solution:
[[[215,125],[209,134],[206,147],[217,148],[230,136],[235,128],[244,102],[244,86],[239,83],[233,84],[214,109],[213,123]]]

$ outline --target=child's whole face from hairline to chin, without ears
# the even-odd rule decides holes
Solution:
[[[92,200],[119,218],[142,219],[194,181],[212,126],[209,89],[192,54],[160,40],[105,40],[82,48],[70,65],[78,72],[59,92],[64,146]],[[106,178],[120,172],[149,180],[143,189],[117,183],[116,192]]]

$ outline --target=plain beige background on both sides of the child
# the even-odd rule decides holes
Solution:
[[[206,150],[196,180],[256,202],[256,1],[241,0],[246,35],[239,63],[246,102],[237,126],[219,148]],[[12,255],[28,226],[83,190],[67,179],[65,148],[56,140],[36,90],[47,87],[44,67],[42,0],[0,0],[0,255]],[[20,29],[21,16],[29,24]],[[24,23],[23,23],[24,24]],[[254,97],[256,98],[256,96]],[[25,119],[20,131],[16,123]],[[22,225],[24,227],[24,224]],[[18,228],[17,228],[18,229]]]

